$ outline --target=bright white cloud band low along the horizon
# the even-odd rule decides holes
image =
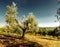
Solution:
[[[5,26],[6,23],[0,23],[0,27]],[[59,26],[59,22],[54,22],[54,23],[39,23],[39,27],[57,27]]]

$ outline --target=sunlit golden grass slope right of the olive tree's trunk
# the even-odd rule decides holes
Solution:
[[[58,41],[58,40],[41,39],[37,36],[29,35],[29,34],[26,34],[25,37],[29,41],[37,42],[37,43],[43,45],[43,47],[60,47],[60,41]]]

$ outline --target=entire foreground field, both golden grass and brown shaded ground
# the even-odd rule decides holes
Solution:
[[[60,47],[60,39],[52,36],[25,34],[23,39],[0,39],[0,47]]]

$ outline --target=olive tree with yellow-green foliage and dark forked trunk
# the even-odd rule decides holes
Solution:
[[[29,13],[28,17],[23,17],[22,22],[18,22],[17,20],[17,6],[16,3],[12,3],[12,5],[7,6],[7,12],[6,12],[6,22],[8,24],[8,27],[12,32],[20,32],[22,31],[22,37],[24,37],[26,30],[30,30],[33,32],[37,32],[39,30],[39,27],[36,23],[35,16],[33,13]],[[8,28],[7,27],[7,28]]]

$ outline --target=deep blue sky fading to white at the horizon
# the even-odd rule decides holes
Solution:
[[[0,0],[0,26],[4,26],[6,6],[16,2],[18,7],[18,20],[22,19],[23,15],[28,16],[28,13],[33,12],[38,25],[40,27],[55,27],[58,22],[54,22],[57,15],[57,9],[60,5],[56,0]]]

